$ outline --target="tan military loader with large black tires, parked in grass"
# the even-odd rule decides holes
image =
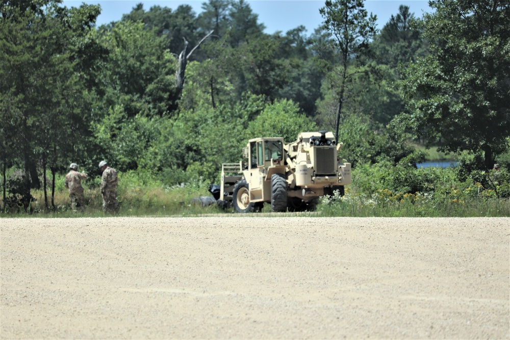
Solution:
[[[303,132],[287,144],[281,137],[250,139],[243,161],[222,166],[218,204],[232,202],[238,213],[260,211],[264,202],[273,212],[315,210],[320,196],[343,195],[351,183],[341,147],[326,131]]]

